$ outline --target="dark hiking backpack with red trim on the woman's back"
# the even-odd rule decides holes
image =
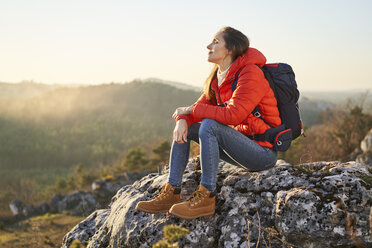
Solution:
[[[295,74],[292,67],[284,63],[266,64],[259,68],[274,92],[282,125],[273,127],[262,118],[260,109],[255,107],[252,114],[262,119],[271,128],[264,134],[256,134],[250,138],[256,141],[268,141],[273,144],[274,150],[284,152],[288,150],[292,140],[301,134],[304,135],[298,108],[300,93],[297,89]],[[239,73],[231,85],[233,92],[238,83]]]

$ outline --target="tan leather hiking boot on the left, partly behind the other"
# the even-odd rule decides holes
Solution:
[[[167,212],[175,203],[181,201],[181,188],[174,188],[170,183],[166,183],[161,192],[150,201],[140,201],[137,203],[136,210],[150,214]]]

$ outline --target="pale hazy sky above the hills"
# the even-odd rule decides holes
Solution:
[[[300,90],[372,88],[372,1],[0,0],[0,82],[202,86],[206,46],[224,26]]]

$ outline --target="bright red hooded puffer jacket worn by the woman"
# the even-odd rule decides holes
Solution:
[[[274,93],[258,67],[262,67],[265,63],[266,58],[261,52],[249,48],[231,65],[220,87],[217,78],[212,81],[211,87],[216,93],[217,102],[227,103],[226,107],[208,101],[203,94],[194,104],[192,114],[181,115],[177,119],[185,119],[189,126],[205,118],[213,119],[233,126],[244,135],[253,136],[253,134],[263,134],[270,128],[263,120],[252,114],[253,109],[258,106],[265,121],[274,127],[281,125]],[[241,72],[238,84],[236,90],[232,92],[231,84],[239,71]],[[256,142],[261,146],[273,148],[273,145],[267,141]]]

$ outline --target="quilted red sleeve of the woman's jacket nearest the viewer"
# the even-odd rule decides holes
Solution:
[[[246,66],[239,75],[237,88],[228,105],[219,107],[197,102],[194,118],[209,118],[225,125],[241,124],[269,90],[263,72],[257,66]]]

